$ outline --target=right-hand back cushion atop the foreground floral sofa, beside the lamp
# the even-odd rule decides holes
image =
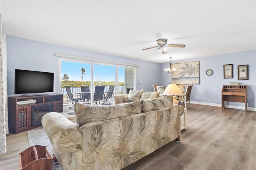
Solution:
[[[169,106],[172,106],[173,97],[166,96],[166,97],[158,97],[155,99],[150,100],[142,100],[142,113],[148,111],[154,111],[158,109],[163,109]]]

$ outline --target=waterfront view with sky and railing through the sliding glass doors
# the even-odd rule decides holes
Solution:
[[[68,102],[64,86],[69,86],[73,95],[80,93],[81,85],[89,86],[92,92],[92,79],[94,87],[105,85],[105,93],[110,85],[115,86],[114,95],[127,94],[128,90],[134,89],[134,68],[103,64],[92,64],[92,67],[90,63],[61,61],[61,93],[64,94],[64,103]]]

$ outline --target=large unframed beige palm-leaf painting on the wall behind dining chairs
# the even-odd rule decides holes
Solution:
[[[174,84],[199,84],[199,61],[172,64],[172,83]]]

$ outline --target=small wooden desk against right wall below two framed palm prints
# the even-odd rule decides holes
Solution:
[[[246,85],[223,85],[221,107],[224,109],[225,101],[245,103],[247,111],[247,86]]]

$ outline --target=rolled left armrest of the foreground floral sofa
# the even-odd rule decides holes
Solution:
[[[52,146],[60,153],[82,150],[82,134],[79,127],[57,112],[46,113],[42,125]]]

